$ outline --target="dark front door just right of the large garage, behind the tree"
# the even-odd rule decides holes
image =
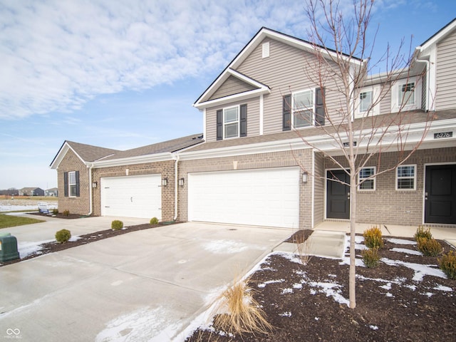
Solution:
[[[349,219],[350,177],[343,170],[328,170],[326,178],[326,218]]]

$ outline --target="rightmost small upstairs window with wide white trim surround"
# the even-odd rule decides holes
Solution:
[[[391,88],[391,111],[421,108],[421,83],[413,76],[398,80]]]

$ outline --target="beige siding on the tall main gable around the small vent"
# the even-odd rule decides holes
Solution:
[[[261,43],[249,57],[237,68],[255,80],[266,84],[272,89],[271,94],[264,95],[264,134],[278,133],[282,130],[282,98],[294,91],[318,87],[318,72],[315,56],[293,46],[266,38],[269,41],[269,58],[261,58]],[[326,105],[328,113],[336,110],[340,101],[339,94],[334,91],[334,78],[327,77]]]

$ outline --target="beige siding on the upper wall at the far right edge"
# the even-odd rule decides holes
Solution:
[[[437,44],[437,93],[435,109],[456,107],[456,31]]]

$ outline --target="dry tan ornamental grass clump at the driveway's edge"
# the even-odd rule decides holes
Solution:
[[[266,320],[266,314],[259,303],[252,296],[252,289],[245,280],[234,281],[234,285],[224,291],[217,299],[219,304],[214,318],[214,328],[226,333],[264,333],[272,330],[271,324]]]

